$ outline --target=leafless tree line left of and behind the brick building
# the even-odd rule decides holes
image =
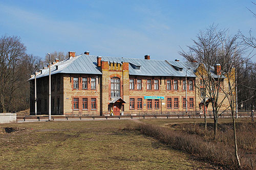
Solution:
[[[50,61],[68,57],[63,52],[51,53]],[[30,83],[27,81],[37,68],[46,66],[45,59],[27,53],[27,47],[18,36],[3,35],[0,38],[0,113],[29,109]]]

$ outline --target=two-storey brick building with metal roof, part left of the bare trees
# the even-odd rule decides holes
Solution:
[[[50,66],[52,114],[185,111],[186,88],[187,111],[200,110],[200,90],[195,88],[199,80],[186,62],[151,60],[149,55],[142,59],[92,56],[89,52],[69,55]],[[29,80],[33,113],[34,76]],[[40,69],[36,81],[37,112],[48,114],[49,68]]]

